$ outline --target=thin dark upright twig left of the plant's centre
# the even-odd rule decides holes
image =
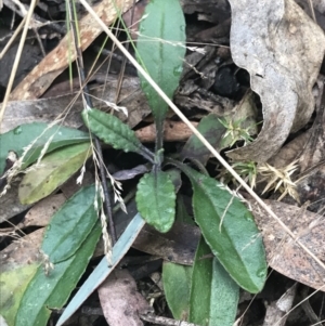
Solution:
[[[72,2],[69,1],[69,6],[72,6]],[[73,12],[73,9],[69,9],[70,12]],[[72,15],[73,16],[73,15]],[[82,52],[79,47],[79,43],[77,43],[78,40],[78,35],[76,30],[76,25],[72,24],[73,26],[73,32],[74,32],[74,39],[75,39],[75,48],[76,48],[76,54],[77,54],[77,63],[78,63],[78,71],[79,71],[79,77],[81,84],[83,86],[82,90],[82,95],[84,96],[86,103],[89,107],[93,107],[92,105],[92,100],[89,96],[89,89],[86,82],[86,74],[84,74],[84,66],[83,66],[83,60],[82,60]],[[104,208],[105,208],[105,214],[108,219],[108,227],[109,227],[109,235],[112,238],[112,245],[114,246],[117,237],[116,237],[116,231],[115,231],[115,225],[114,225],[114,220],[113,220],[113,213],[112,213],[112,204],[110,204],[110,196],[107,187],[107,182],[106,182],[106,171],[104,167],[104,160],[103,160],[103,153],[102,153],[102,146],[96,136],[94,136],[94,145],[96,149],[96,154],[99,157],[99,168],[100,168],[100,174],[101,174],[101,183],[103,187],[103,193],[104,193]]]

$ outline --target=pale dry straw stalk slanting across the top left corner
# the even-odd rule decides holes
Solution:
[[[3,102],[2,102],[2,107],[1,107],[1,110],[0,110],[0,131],[1,131],[1,122],[2,122],[2,119],[3,119],[4,112],[5,112],[5,106],[6,106],[6,103],[9,101],[9,96],[10,96],[10,93],[11,93],[11,90],[12,90],[12,86],[13,86],[13,82],[14,82],[14,79],[15,79],[15,76],[16,76],[16,71],[17,71],[17,68],[18,68],[20,61],[21,61],[21,56],[22,56],[24,44],[25,44],[27,31],[28,31],[28,28],[29,28],[29,24],[30,24],[30,21],[31,21],[32,13],[34,13],[34,8],[36,6],[37,1],[38,0],[31,0],[29,10],[28,10],[28,13],[27,13],[27,16],[26,16],[26,23],[25,23],[23,34],[22,34],[22,37],[21,37],[21,40],[20,40],[20,45],[18,45],[18,49],[17,49],[17,53],[16,53],[16,56],[15,56],[14,64],[12,66],[9,82],[8,82],[8,86],[6,86],[6,91],[5,91],[5,94],[4,94]]]

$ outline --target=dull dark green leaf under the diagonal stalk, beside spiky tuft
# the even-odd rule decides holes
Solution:
[[[204,117],[199,121],[197,129],[214,148],[220,148],[222,136],[226,129],[216,115],[210,114]],[[210,156],[210,151],[195,134],[192,134],[180,156],[182,159],[193,158],[205,165]]]

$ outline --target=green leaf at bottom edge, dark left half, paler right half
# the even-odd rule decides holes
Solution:
[[[202,238],[192,273],[190,322],[202,326],[233,326],[238,297],[238,285]]]

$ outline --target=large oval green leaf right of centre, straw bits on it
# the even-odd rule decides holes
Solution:
[[[268,265],[252,214],[220,182],[191,168],[184,172],[192,182],[194,217],[207,244],[240,287],[259,292]]]

